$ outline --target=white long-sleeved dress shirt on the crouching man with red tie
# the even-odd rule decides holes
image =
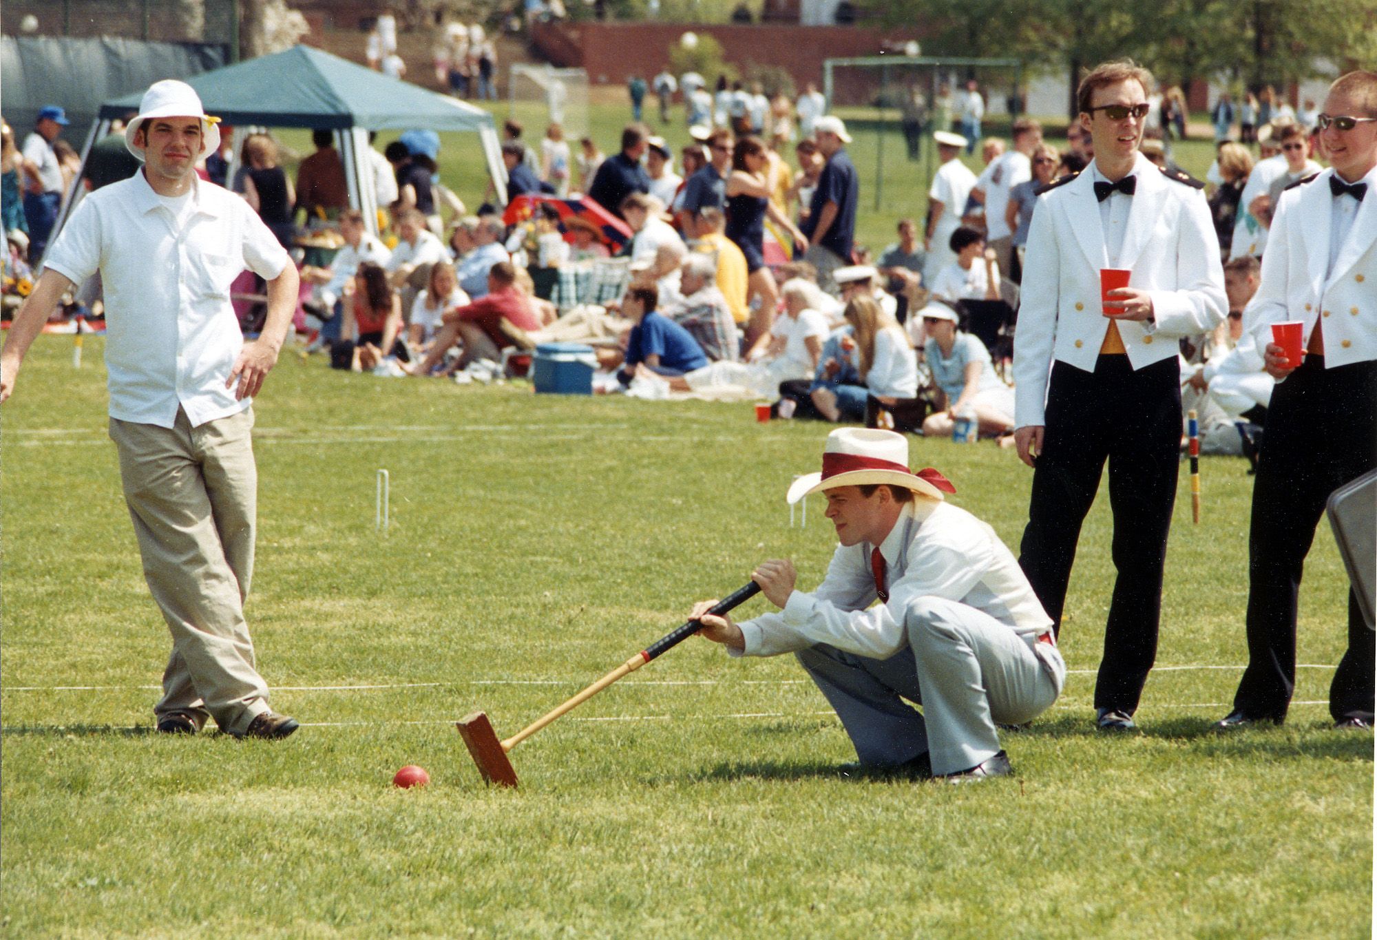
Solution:
[[[795,590],[784,611],[741,623],[742,652],[777,656],[815,644],[887,659],[906,641],[907,605],[940,597],[983,611],[1015,633],[1037,637],[1052,627],[1013,553],[989,525],[964,509],[916,496],[880,543],[890,600],[877,600],[870,553],[874,546],[837,546],[818,590]],[[869,609],[868,609],[869,608]]]

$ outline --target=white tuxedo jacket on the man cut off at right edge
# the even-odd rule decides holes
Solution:
[[[1245,321],[1265,349],[1274,323],[1300,320],[1308,342],[1322,317],[1326,368],[1377,358],[1377,170],[1363,176],[1367,194],[1329,272],[1333,175],[1326,170],[1282,193]]]

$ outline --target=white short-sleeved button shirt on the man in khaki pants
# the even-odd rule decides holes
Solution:
[[[245,267],[273,280],[291,258],[234,193],[200,179],[191,193],[179,227],[143,172],[103,186],[48,251],[74,284],[101,272],[112,418],[172,427],[180,407],[197,427],[251,404],[224,387],[244,345],[230,284]]]

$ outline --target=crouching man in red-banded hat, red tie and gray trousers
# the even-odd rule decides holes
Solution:
[[[1066,680],[1052,620],[1013,554],[945,502],[956,492],[946,477],[909,470],[907,438],[894,431],[832,431],[822,473],[796,480],[788,499],[815,492],[841,542],[822,584],[795,590],[793,564],[766,561],[752,579],[781,612],[738,624],[705,615],[704,601],[693,612],[702,635],[733,656],[795,653],[861,768],[954,783],[1008,775],[996,722],[1031,721]]]

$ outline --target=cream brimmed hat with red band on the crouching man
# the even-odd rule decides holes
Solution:
[[[943,499],[956,487],[932,467],[909,470],[909,438],[869,427],[839,427],[828,434],[822,449],[822,473],[799,477],[785,496],[797,503],[804,496],[836,487],[890,484],[912,489],[928,499]]]

